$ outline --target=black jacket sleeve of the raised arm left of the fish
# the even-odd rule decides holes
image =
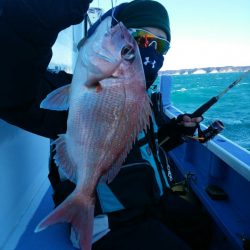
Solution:
[[[47,137],[65,130],[66,112],[42,110],[39,105],[57,84],[51,85],[46,76],[51,47],[61,30],[83,20],[89,2],[5,0],[0,13],[1,119]],[[64,121],[64,128],[56,127],[57,119]]]

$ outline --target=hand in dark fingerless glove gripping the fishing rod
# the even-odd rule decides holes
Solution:
[[[203,117],[193,117],[190,114],[179,115],[176,119],[177,125],[183,135],[193,136],[195,130],[199,126],[199,123],[203,120]]]

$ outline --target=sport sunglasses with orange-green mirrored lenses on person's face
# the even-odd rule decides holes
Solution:
[[[169,41],[158,37],[149,31],[143,29],[129,29],[129,33],[133,36],[138,46],[141,48],[155,46],[156,51],[161,55],[165,55],[170,48]]]

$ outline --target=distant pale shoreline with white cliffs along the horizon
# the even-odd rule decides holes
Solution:
[[[206,68],[164,70],[160,71],[160,75],[216,74],[216,73],[244,72],[247,70],[250,70],[250,66],[206,67]]]

